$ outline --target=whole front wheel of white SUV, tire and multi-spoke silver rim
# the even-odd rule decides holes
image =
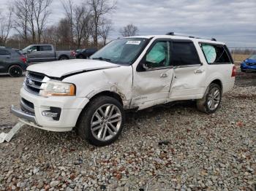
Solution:
[[[78,121],[78,134],[90,144],[105,146],[121,134],[124,109],[119,101],[109,96],[94,98]]]

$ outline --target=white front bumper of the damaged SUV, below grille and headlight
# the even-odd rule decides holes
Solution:
[[[75,127],[88,98],[53,96],[45,98],[20,90],[20,107],[11,106],[10,112],[29,126],[43,130],[65,132]]]

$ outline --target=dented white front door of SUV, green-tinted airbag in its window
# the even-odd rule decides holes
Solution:
[[[140,109],[167,101],[173,67],[170,66],[170,39],[157,39],[134,70],[132,107]]]

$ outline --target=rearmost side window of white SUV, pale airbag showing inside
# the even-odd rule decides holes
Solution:
[[[201,43],[200,47],[203,50],[207,63],[232,63],[225,46],[221,44]]]

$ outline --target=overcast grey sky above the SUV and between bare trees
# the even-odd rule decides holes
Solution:
[[[61,0],[53,0],[51,9],[50,23],[64,17]],[[229,47],[256,47],[256,0],[117,0],[116,12],[109,17],[115,29],[112,39],[121,26],[133,23],[140,35],[175,31],[215,37]]]

